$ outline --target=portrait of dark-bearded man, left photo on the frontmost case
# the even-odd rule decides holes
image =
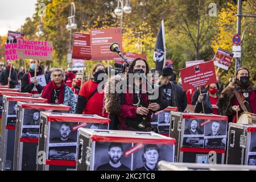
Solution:
[[[96,142],[94,153],[94,171],[130,171],[131,156],[123,152],[131,148],[131,143]]]

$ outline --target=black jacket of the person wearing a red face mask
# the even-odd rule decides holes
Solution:
[[[212,103],[210,103],[210,97],[208,92],[207,93],[203,93],[203,104],[204,104],[204,113],[205,114],[211,114],[213,113],[213,109],[212,109]],[[217,95],[218,97],[218,95]],[[196,106],[195,106],[195,113],[203,113],[203,106],[202,103],[200,102],[196,102]],[[218,114],[220,114],[220,110],[218,110]]]

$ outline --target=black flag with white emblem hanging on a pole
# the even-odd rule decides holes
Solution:
[[[164,20],[162,20],[161,22],[158,36],[156,37],[153,59],[155,61],[156,70],[161,73],[164,65],[166,64],[166,40],[164,37]]]

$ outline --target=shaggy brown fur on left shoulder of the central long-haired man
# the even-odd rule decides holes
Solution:
[[[108,113],[118,114],[121,109],[121,96],[115,92],[115,86],[123,78],[119,75],[112,76],[106,83],[105,93],[105,109]],[[111,86],[110,86],[111,85]]]

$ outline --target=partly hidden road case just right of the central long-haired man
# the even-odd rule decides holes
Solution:
[[[156,113],[152,113],[152,131],[158,134],[169,137],[170,133],[170,115],[171,111],[177,111],[177,107],[166,107],[164,110],[160,110]]]

